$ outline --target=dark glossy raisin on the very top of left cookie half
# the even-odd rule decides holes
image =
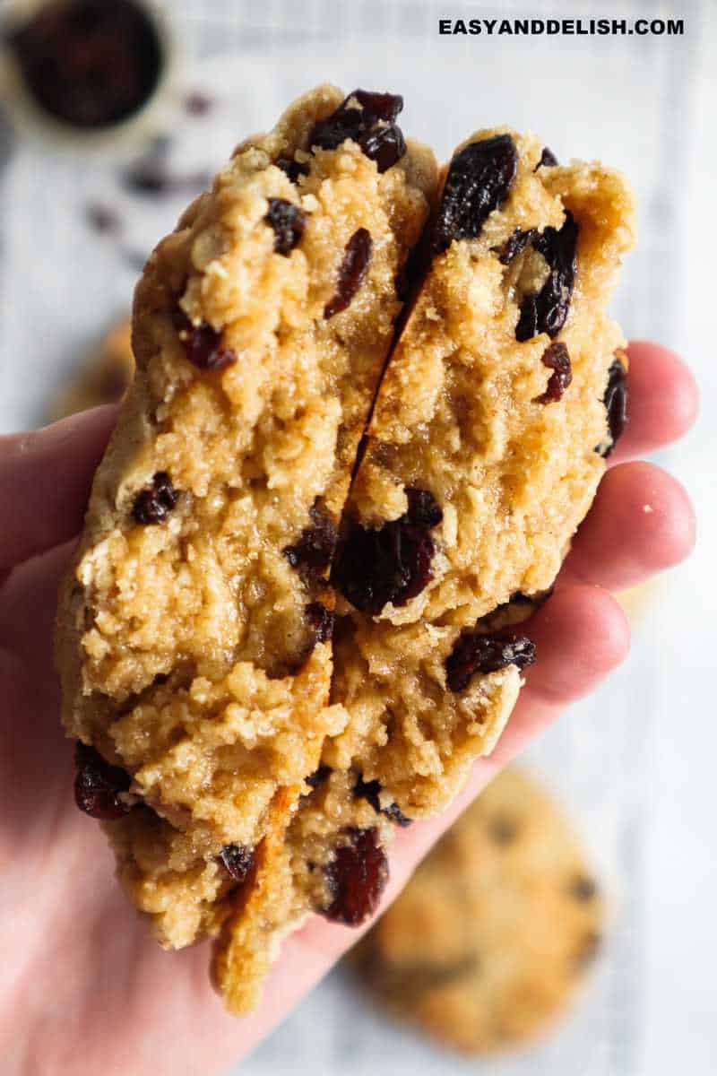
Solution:
[[[314,125],[309,144],[335,150],[352,139],[385,172],[405,153],[403,132],[395,122],[402,109],[403,98],[397,94],[355,89],[335,112]]]

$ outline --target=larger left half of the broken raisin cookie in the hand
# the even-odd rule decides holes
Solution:
[[[327,705],[326,576],[438,175],[401,103],[300,99],[239,146],[137,289],[137,378],[57,650],[78,801],[168,947],[229,917],[252,933],[264,866],[346,721]]]

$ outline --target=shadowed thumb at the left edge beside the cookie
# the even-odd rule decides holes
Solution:
[[[117,411],[96,408],[0,437],[0,569],[75,535]]]

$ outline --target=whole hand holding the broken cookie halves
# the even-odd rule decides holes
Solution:
[[[623,459],[679,436],[696,402],[674,356],[637,344],[630,360]],[[8,1076],[211,1073],[256,1045],[356,938],[313,920],[285,945],[260,1010],[232,1020],[210,987],[206,947],[169,954],[154,944],[114,880],[102,833],[72,803],[72,746],[59,728],[52,666],[55,592],[69,555],[61,543],[80,527],[112,420],[112,409],[102,409],[23,444],[0,444],[0,569],[8,569],[0,590],[0,1056]],[[691,542],[689,502],[666,475],[626,464],[606,476],[555,595],[531,624],[540,661],[507,733],[445,816],[401,833],[389,900],[491,773],[622,660],[628,629],[607,591],[676,563]]]

